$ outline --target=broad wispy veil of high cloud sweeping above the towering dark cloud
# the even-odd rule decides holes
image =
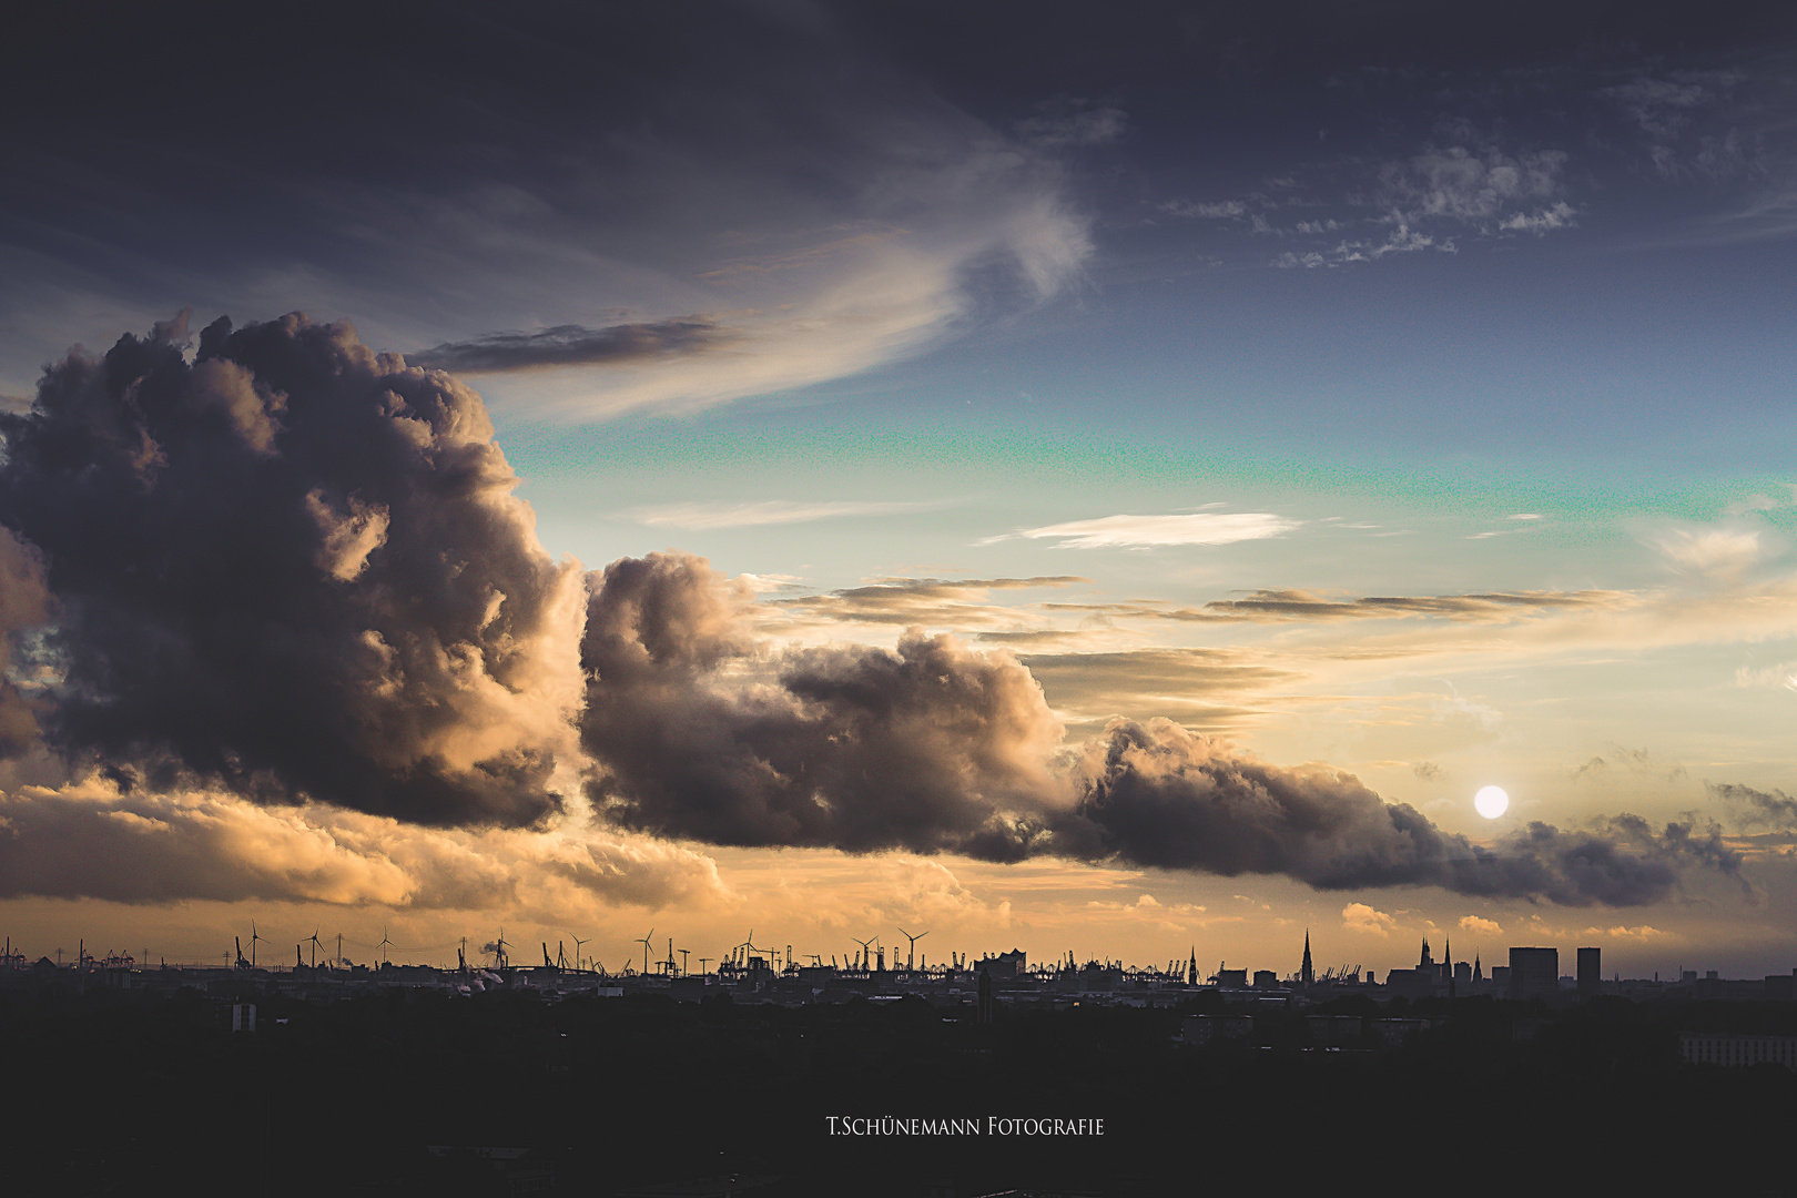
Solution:
[[[1116,106],[999,128],[886,40],[792,11],[525,4],[438,13],[428,38],[386,11],[329,47],[226,23],[156,50],[52,20],[75,65],[18,86],[70,102],[5,145],[65,235],[13,239],[9,296],[83,322],[183,295],[356,313],[417,363],[507,374],[507,402],[586,420],[841,379],[1080,282],[1069,163],[1123,131]],[[92,145],[77,113],[113,54],[165,65],[147,86],[169,111],[237,99],[203,144],[142,129],[52,167],[38,138]],[[329,86],[264,86],[320,70]],[[135,237],[144,212],[180,217]],[[54,327],[32,323],[5,339]]]

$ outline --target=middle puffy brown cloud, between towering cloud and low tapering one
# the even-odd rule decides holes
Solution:
[[[1028,670],[947,636],[760,656],[681,555],[593,577],[582,740],[618,823],[721,844],[1024,855],[1060,726]]]

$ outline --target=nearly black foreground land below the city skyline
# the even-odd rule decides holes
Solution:
[[[1362,1013],[1348,1002],[1321,1009]],[[230,1004],[194,991],[7,991],[0,1176],[14,1194],[1797,1194],[1797,1074],[1678,1054],[1678,1031],[1797,1035],[1797,1004],[1368,1004],[1439,1022],[1337,1051],[1290,1011],[1179,1044],[1199,1011],[1220,1008],[979,1026],[916,999],[394,990],[264,997],[234,1035]],[[830,1135],[828,1115],[1103,1135]]]

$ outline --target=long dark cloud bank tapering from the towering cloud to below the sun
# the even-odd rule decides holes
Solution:
[[[1565,905],[1650,903],[1691,868],[1739,868],[1714,828],[1633,815],[1481,846],[1348,774],[1270,765],[1168,720],[1120,720],[1049,771],[1060,724],[1015,659],[915,630],[895,652],[762,654],[746,602],[679,555],[593,577],[582,738],[602,771],[591,796],[618,823],[719,844],[1057,855]]]

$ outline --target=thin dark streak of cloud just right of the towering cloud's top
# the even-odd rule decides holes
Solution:
[[[456,374],[503,374],[555,366],[606,366],[704,354],[737,339],[728,329],[686,316],[636,325],[555,325],[541,332],[492,332],[408,354],[415,366]]]

